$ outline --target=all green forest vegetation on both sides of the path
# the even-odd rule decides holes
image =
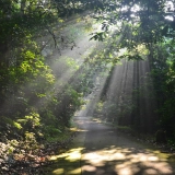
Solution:
[[[113,122],[143,132],[166,130],[172,141],[175,138],[173,4],[173,0],[1,0],[0,141],[15,140],[16,145],[20,140],[49,141],[61,136],[83,104],[82,97],[91,93],[94,74],[104,71],[106,65],[110,65],[112,74],[116,62],[124,58],[136,60],[136,69],[137,62],[149,59],[151,81],[143,85],[149,86],[151,93],[148,93],[147,98],[155,106],[151,108],[153,115],[149,118],[141,115],[140,102],[145,95],[142,96],[143,86],[137,83],[132,103],[122,94],[122,110],[117,97],[105,106],[110,74],[97,107]],[[94,52],[91,57],[95,59],[86,58],[81,67],[69,58],[50,61],[50,57],[42,56],[47,43],[40,43],[39,38],[47,35],[58,51],[62,45],[73,49],[74,40],[62,37],[60,31],[67,20],[88,10],[94,11],[94,19],[102,23],[101,32],[92,33],[91,38],[104,42],[101,54]],[[125,54],[117,56],[122,48]],[[62,70],[55,71],[51,67],[55,61],[62,65],[63,71],[71,68],[70,74],[74,77],[61,80]]]

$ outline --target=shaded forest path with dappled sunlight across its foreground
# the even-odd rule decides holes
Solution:
[[[89,116],[97,92],[74,117],[79,131],[71,149],[54,155],[57,163],[47,170],[52,175],[174,175],[171,155],[149,149],[119,133],[109,125]]]

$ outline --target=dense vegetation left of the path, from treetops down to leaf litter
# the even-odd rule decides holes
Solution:
[[[75,15],[90,7],[71,1],[0,1],[0,174],[23,166],[31,171],[28,161],[36,163],[36,158],[69,141],[71,118],[91,93],[96,68],[91,69],[93,61],[81,66],[61,57],[61,49],[72,50],[81,31],[91,30],[91,23],[81,24]],[[79,31],[71,25],[77,20]]]

